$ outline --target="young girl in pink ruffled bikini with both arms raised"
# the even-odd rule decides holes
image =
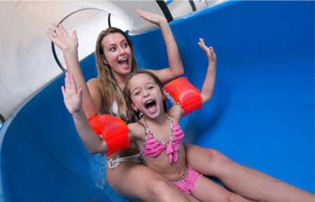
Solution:
[[[214,92],[216,78],[216,54],[213,48],[207,48],[200,38],[200,47],[207,52],[209,67],[201,92],[201,103],[207,103]],[[78,129],[78,134],[89,150],[107,152],[105,140],[97,138],[90,129],[81,106],[82,89],[76,90],[71,75],[66,76],[66,89],[62,87],[64,103]],[[139,112],[142,117],[137,122],[128,124],[130,142],[134,142],[144,157],[146,166],[164,175],[172,184],[187,194],[201,201],[248,201],[233,194],[204,177],[186,163],[185,147],[183,146],[183,131],[179,120],[183,109],[174,105],[165,110],[166,92],[162,82],[149,71],[132,73],[127,80],[124,92],[126,94],[129,115],[135,117]],[[82,118],[83,117],[83,118]],[[189,196],[190,197],[190,196]],[[190,197],[191,201],[192,199]]]

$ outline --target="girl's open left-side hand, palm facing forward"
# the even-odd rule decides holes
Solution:
[[[80,113],[82,109],[82,88],[77,89],[76,82],[71,73],[66,73],[62,86],[62,95],[64,96],[64,105],[71,115]]]

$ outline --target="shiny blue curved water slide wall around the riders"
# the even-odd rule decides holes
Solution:
[[[214,98],[184,118],[186,140],[314,193],[314,2],[232,1],[171,26],[197,87],[207,71],[198,38],[218,55]],[[139,66],[167,66],[160,31],[131,38]],[[86,79],[96,75],[93,57],[81,62]],[[63,78],[3,124],[2,201],[124,201],[94,185],[93,157],[62,102]]]

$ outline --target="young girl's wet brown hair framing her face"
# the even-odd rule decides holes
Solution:
[[[130,80],[132,80],[132,78],[135,75],[139,75],[141,73],[150,75],[151,78],[153,78],[154,82],[160,87],[160,90],[161,90],[162,94],[164,94],[162,82],[160,81],[158,76],[155,75],[154,73],[152,73],[151,71],[139,70],[137,72],[130,73],[130,75],[129,75],[128,79],[127,79],[125,88],[124,88],[124,94],[125,94],[125,100],[126,100],[126,104],[127,104],[127,117],[128,117],[128,119],[132,120],[132,122],[138,121],[141,117],[139,115],[139,112],[135,111],[132,108],[132,99],[131,99],[129,85],[130,85]],[[166,113],[167,112],[166,97],[163,100],[163,107],[164,107],[164,111]]]

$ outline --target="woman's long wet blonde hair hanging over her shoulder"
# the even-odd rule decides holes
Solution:
[[[104,50],[102,47],[102,41],[105,36],[114,33],[120,33],[123,36],[125,36],[126,41],[132,50],[132,69],[130,73],[138,71],[137,62],[134,59],[134,47],[132,45],[132,42],[130,41],[130,38],[128,38],[127,34],[125,34],[124,31],[116,27],[109,27],[103,30],[99,34],[99,37],[97,38],[95,50],[98,78],[102,85],[102,106],[100,111],[102,111],[102,113],[110,113],[113,101],[117,101],[118,115],[119,117],[125,117],[123,111],[123,106],[125,106],[125,100],[124,96],[120,96],[122,89],[120,90],[116,78],[113,76],[111,66],[109,66],[109,64],[104,63],[104,59],[106,59],[106,56],[104,54]]]

